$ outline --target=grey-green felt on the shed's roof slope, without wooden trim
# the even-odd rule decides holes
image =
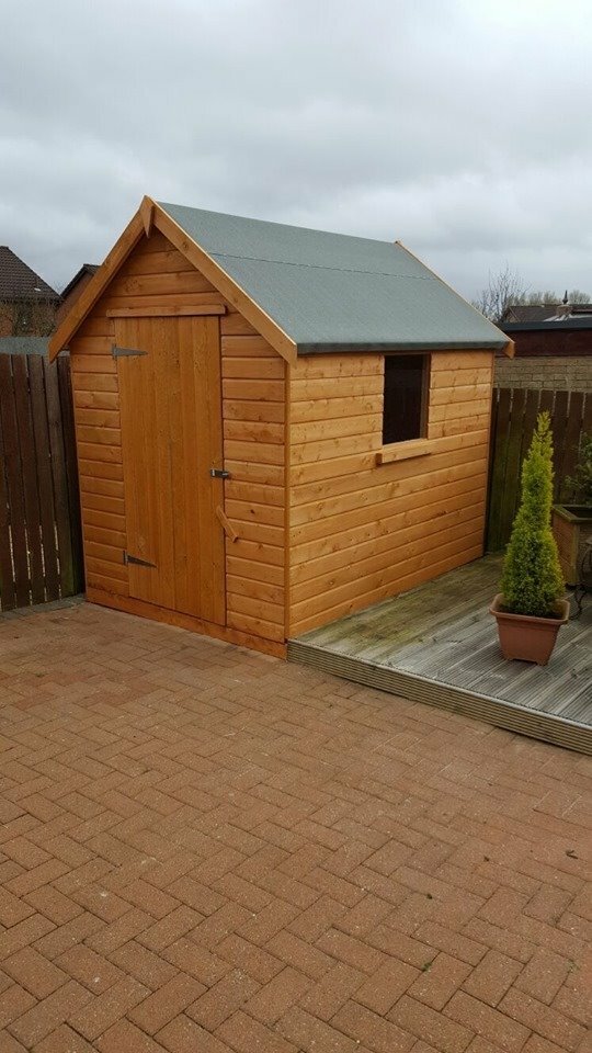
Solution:
[[[504,348],[508,337],[407,249],[160,203],[299,354]]]

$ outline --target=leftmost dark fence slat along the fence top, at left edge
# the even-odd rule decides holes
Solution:
[[[10,509],[10,540],[14,565],[14,593],[18,607],[26,607],[31,602],[26,521],[11,364],[10,358],[0,358],[0,416],[2,417],[4,437],[4,466]]]

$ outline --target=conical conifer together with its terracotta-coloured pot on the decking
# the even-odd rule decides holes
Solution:
[[[569,618],[557,544],[550,529],[553,439],[540,414],[522,466],[522,500],[505,553],[501,592],[490,608],[504,658],[546,666]]]

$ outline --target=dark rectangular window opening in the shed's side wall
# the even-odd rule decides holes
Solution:
[[[428,417],[429,355],[385,355],[383,445],[421,439]]]

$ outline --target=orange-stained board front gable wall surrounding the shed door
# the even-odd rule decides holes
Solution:
[[[130,324],[126,319],[148,324],[150,318],[172,321],[190,315],[218,316],[212,320],[220,331],[221,461],[231,478],[224,483],[224,499],[223,484],[216,484],[220,494],[213,529],[223,545],[226,537],[226,624],[246,639],[282,644],[285,364],[159,231],[134,249],[72,341],[89,586],[96,595],[122,601],[129,597],[132,602],[130,579],[143,573],[124,563],[130,509],[124,488],[117,363],[125,369],[125,360],[111,353],[115,327]],[[216,353],[212,348],[208,361]],[[204,483],[212,484],[207,475]],[[209,620],[218,621],[219,612]]]

